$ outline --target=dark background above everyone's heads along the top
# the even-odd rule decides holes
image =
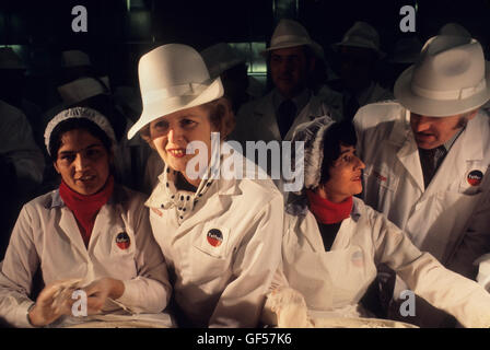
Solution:
[[[88,10],[88,33],[73,33],[74,5]],[[489,0],[2,0],[0,46],[20,45],[28,63],[28,95],[48,108],[43,86],[59,67],[65,49],[85,50],[113,85],[138,88],[139,57],[162,44],[182,43],[200,50],[218,42],[265,42],[280,18],[300,21],[326,48],[359,20],[375,26],[389,52],[401,33],[402,5],[417,5],[416,35],[424,42],[447,22],[464,25],[488,50]],[[51,85],[56,86],[52,81]]]

